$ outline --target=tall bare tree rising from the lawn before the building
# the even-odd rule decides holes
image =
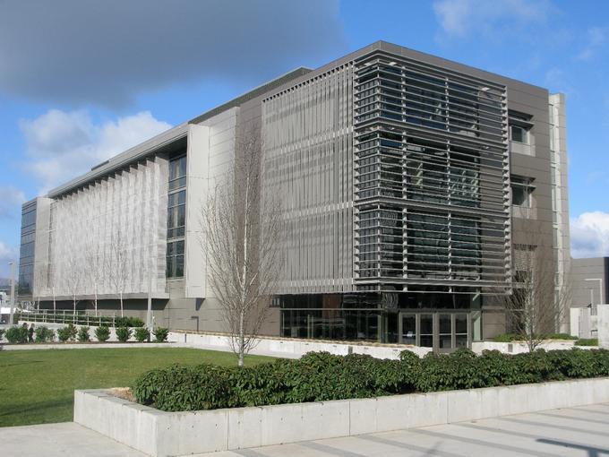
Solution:
[[[277,199],[263,193],[256,127],[237,138],[234,168],[202,210],[207,277],[239,366],[257,342],[281,268],[281,215]]]

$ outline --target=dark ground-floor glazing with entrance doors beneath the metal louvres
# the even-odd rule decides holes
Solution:
[[[316,294],[279,297],[281,336],[377,341],[438,350],[467,347],[480,298],[446,294]],[[479,313],[478,313],[479,314]]]

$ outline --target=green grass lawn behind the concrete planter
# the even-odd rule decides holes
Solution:
[[[270,360],[247,356],[245,365]],[[183,348],[0,351],[0,427],[70,421],[74,389],[129,386],[137,375],[173,363],[236,366],[236,356]]]

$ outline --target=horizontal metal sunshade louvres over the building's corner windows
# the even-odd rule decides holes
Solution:
[[[357,289],[507,288],[505,87],[383,52],[354,79]]]

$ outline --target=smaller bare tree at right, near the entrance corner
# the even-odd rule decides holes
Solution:
[[[500,301],[508,329],[521,336],[532,352],[560,328],[569,307],[570,281],[556,283],[553,249],[547,245],[547,237],[529,232],[524,239],[527,244],[514,246],[513,289]]]

